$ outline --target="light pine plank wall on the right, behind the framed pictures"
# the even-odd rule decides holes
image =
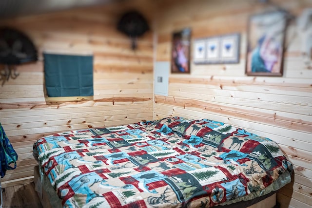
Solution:
[[[272,0],[301,14],[311,0]],[[173,31],[192,29],[192,39],[240,33],[238,64],[195,65],[171,74],[168,96],[155,96],[154,118],[209,118],[276,141],[294,166],[292,183],[277,194],[281,207],[312,206],[312,70],[301,57],[295,21],[287,31],[282,77],[246,76],[249,16],[272,8],[257,0],[164,0],[156,18],[156,61],[171,60]]]

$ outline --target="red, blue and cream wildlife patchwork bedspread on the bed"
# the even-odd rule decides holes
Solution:
[[[34,156],[36,189],[64,208],[231,206],[271,196],[292,174],[272,140],[183,117],[56,133]]]

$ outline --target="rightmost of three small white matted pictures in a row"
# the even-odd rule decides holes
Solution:
[[[220,38],[220,62],[239,62],[239,34],[225,35]]]

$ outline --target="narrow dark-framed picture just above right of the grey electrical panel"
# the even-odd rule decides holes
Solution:
[[[191,29],[173,34],[171,73],[190,73]]]

